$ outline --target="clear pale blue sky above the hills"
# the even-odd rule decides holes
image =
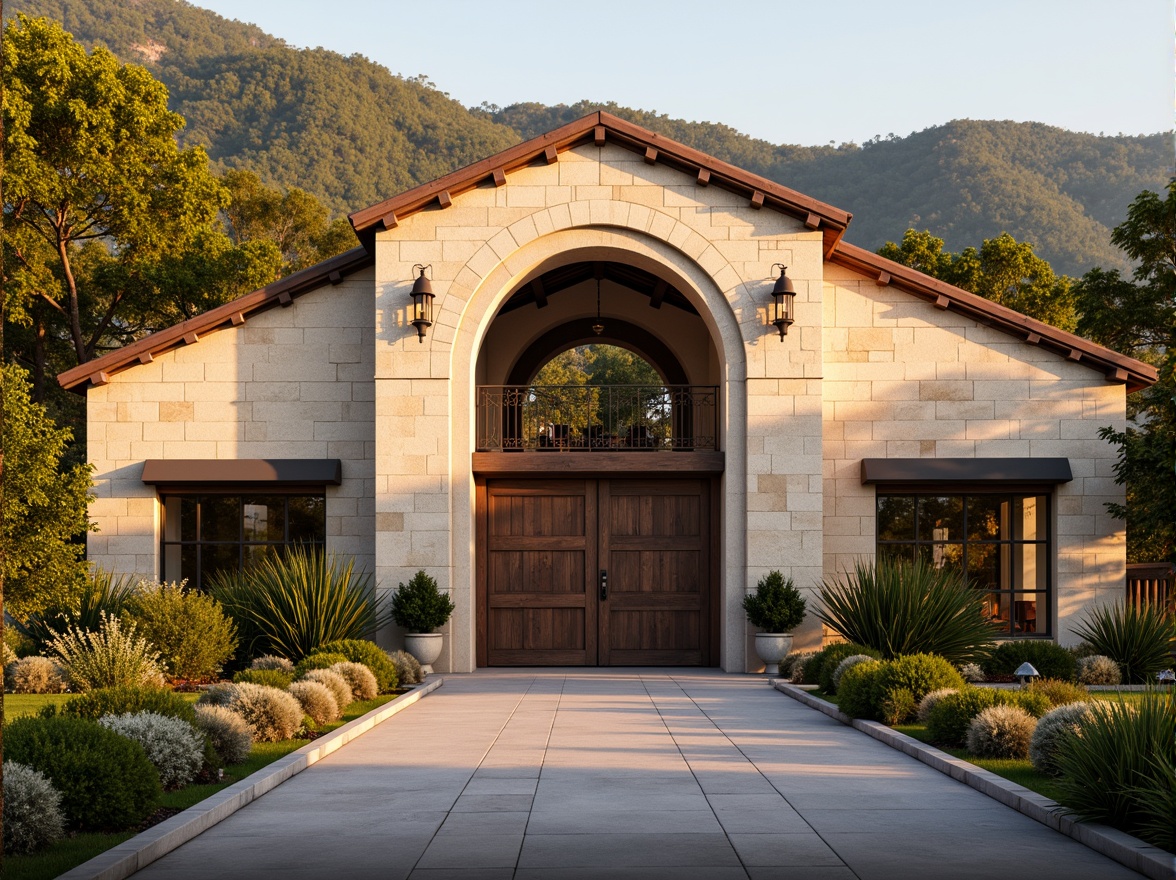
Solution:
[[[1174,121],[1172,0],[193,0],[467,106],[614,100],[774,142]]]

